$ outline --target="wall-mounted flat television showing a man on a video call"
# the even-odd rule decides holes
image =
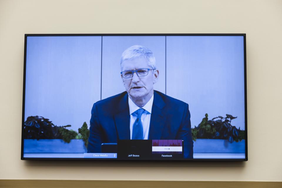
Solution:
[[[26,34],[23,89],[23,160],[247,160],[245,34]]]

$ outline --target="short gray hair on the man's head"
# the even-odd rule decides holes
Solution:
[[[121,55],[120,69],[122,69],[122,62],[125,60],[132,60],[138,57],[144,57],[147,59],[149,66],[152,69],[156,69],[156,60],[153,52],[145,46],[134,45],[127,48]]]

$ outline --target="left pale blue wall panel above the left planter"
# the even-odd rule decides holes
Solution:
[[[100,100],[101,36],[28,37],[25,120],[38,115],[77,130]]]

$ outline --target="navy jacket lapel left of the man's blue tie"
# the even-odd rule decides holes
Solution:
[[[117,128],[117,138],[120,140],[130,140],[130,114],[128,106],[128,94],[122,98],[114,115],[115,126]]]

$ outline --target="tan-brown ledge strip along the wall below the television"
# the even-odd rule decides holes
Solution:
[[[5,188],[281,188],[282,182],[231,182],[231,181],[117,181],[117,180],[23,180],[0,179]]]

